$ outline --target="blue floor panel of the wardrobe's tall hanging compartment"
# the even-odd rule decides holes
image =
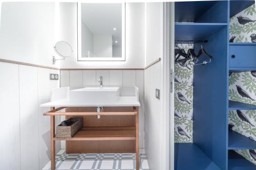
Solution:
[[[175,169],[220,170],[194,143],[175,143]]]

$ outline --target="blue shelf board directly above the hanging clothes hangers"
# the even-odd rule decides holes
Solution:
[[[227,23],[175,23],[176,40],[205,40],[205,38],[227,27]]]

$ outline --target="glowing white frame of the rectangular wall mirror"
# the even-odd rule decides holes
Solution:
[[[90,3],[88,3],[90,4]],[[125,3],[122,4],[122,56],[121,57],[82,57],[81,51],[81,3],[77,3],[77,61],[125,61]]]

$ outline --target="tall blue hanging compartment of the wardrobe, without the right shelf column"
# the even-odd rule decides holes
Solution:
[[[228,1],[175,3],[175,40],[207,40],[214,56],[194,67],[194,143],[175,145],[176,170],[227,169],[228,9]]]

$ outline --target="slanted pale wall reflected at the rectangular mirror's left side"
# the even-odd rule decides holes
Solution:
[[[88,27],[81,21],[81,50],[82,57],[87,57],[88,51],[94,54],[93,51],[93,33],[88,29]]]

